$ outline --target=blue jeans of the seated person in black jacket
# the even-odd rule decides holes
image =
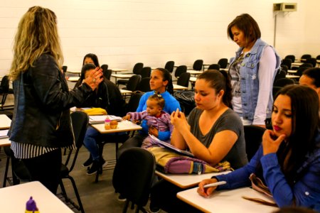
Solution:
[[[125,134],[125,132],[101,134],[92,126],[87,127],[83,144],[85,145],[85,148],[87,148],[87,150],[90,152],[90,155],[93,160],[100,160],[98,143],[100,143],[101,141],[108,141],[111,138],[114,138],[116,134],[121,135],[121,134]]]

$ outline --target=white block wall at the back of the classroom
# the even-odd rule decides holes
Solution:
[[[298,11],[277,13],[275,47],[282,57],[304,53],[320,55],[318,0],[292,0]],[[68,70],[80,70],[86,53],[100,64],[132,70],[134,63],[163,67],[168,60],[192,65],[194,60],[216,63],[233,57],[238,48],[228,40],[228,23],[250,13],[260,25],[262,39],[273,45],[274,0],[1,0],[0,75],[12,59],[16,27],[30,6],[52,9]]]

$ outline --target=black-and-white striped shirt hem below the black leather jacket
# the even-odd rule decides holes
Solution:
[[[75,143],[71,146],[67,146],[65,148],[75,149]],[[40,155],[49,153],[51,151],[55,151],[58,148],[50,148],[44,146],[35,146],[33,144],[28,143],[16,143],[11,141],[11,149],[14,151],[14,157],[18,159],[28,159],[28,158],[36,158]]]

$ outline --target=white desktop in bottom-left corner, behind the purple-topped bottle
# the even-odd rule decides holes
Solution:
[[[1,188],[1,212],[25,212],[26,202],[31,196],[36,201],[39,212],[73,213],[67,205],[38,181]]]

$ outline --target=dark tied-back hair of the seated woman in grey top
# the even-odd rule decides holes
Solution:
[[[221,90],[223,94],[223,104],[232,109],[231,100],[233,99],[230,76],[224,70],[208,70],[198,75],[197,80],[203,79],[209,82],[210,87],[215,89],[218,94]]]

